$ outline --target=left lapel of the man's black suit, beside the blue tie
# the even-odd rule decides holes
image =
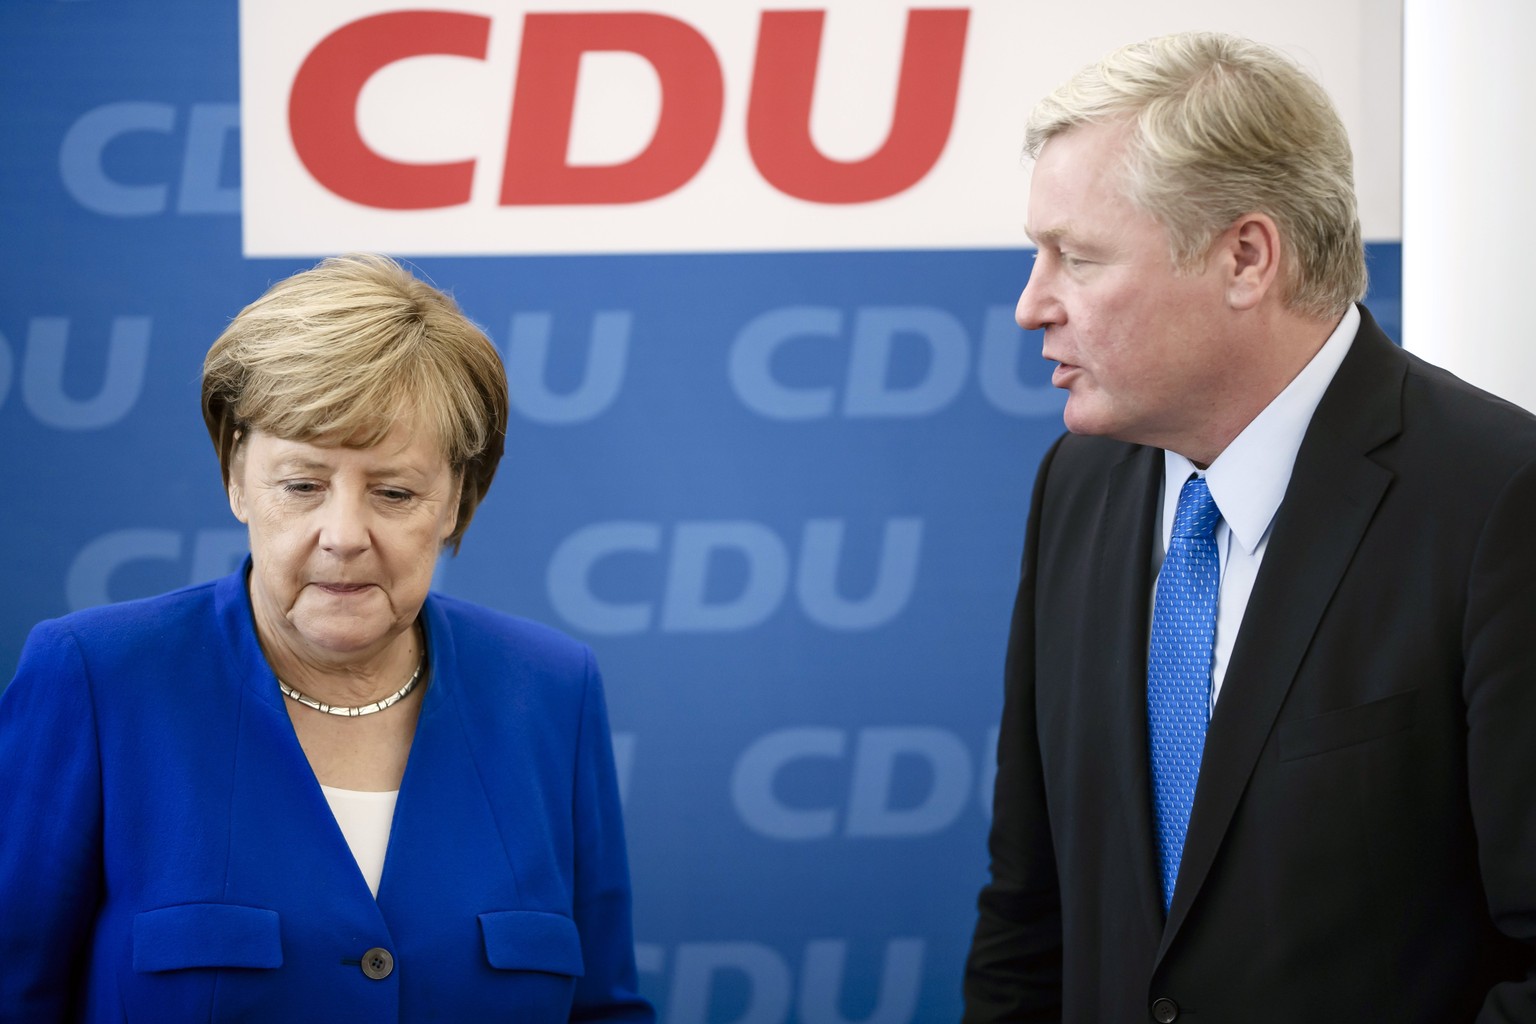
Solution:
[[[1132,847],[1137,901],[1152,933],[1163,927],[1163,907],[1147,768],[1146,643],[1152,614],[1152,531],[1161,481],[1163,453],[1157,448],[1132,448],[1111,470],[1094,539],[1094,616],[1104,625],[1104,639],[1091,643],[1084,662],[1084,679],[1101,686],[1106,700],[1107,749]]]

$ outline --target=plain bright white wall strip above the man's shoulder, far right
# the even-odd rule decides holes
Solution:
[[[1536,408],[1528,0],[1405,0],[1402,342]]]

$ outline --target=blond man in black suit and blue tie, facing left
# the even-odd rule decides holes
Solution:
[[[1349,140],[1279,54],[1129,46],[1026,149],[1071,433],[966,1019],[1536,1021],[1536,419],[1355,304]]]

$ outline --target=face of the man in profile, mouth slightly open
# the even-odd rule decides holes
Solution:
[[[1086,124],[1040,152],[1028,226],[1040,253],[1017,319],[1044,329],[1068,430],[1180,451],[1218,404],[1230,310],[1221,261],[1175,273],[1167,232],[1123,195],[1127,135]]]

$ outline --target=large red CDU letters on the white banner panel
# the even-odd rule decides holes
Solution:
[[[828,157],[811,134],[825,11],[763,11],[748,104],[746,150],[763,181],[811,203],[883,200],[917,184],[954,124],[966,9],[906,12],[889,130],[862,160]],[[484,61],[493,20],[455,11],[393,11],[349,21],[304,58],[289,94],[293,149],[316,183],[362,206],[421,210],[472,198],[478,161],[407,163],[369,146],[358,98],[381,69],[412,57]],[[611,164],[568,160],[582,57],[624,52],[647,61],[660,112],[645,149]],[[720,134],[720,55],[687,21],[653,12],[527,14],[502,163],[501,206],[644,203],[688,184]]]

